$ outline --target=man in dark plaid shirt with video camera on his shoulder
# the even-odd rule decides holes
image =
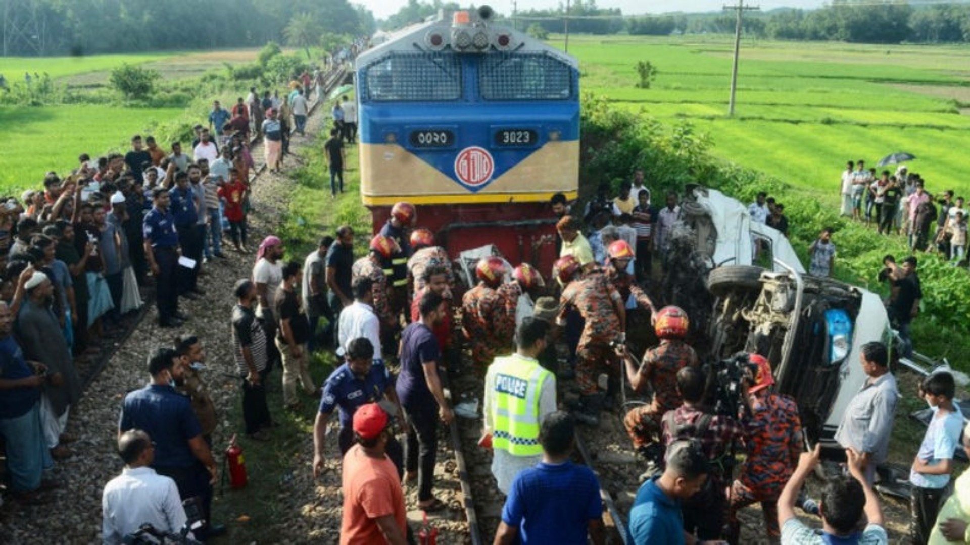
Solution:
[[[706,383],[707,377],[701,369],[687,367],[677,371],[677,392],[684,404],[663,415],[663,443],[669,447],[680,438],[696,439],[713,466],[707,484],[694,497],[685,500],[681,509],[684,530],[696,534],[700,540],[721,536],[733,464],[733,443],[744,433],[736,417],[715,414],[705,406]],[[741,384],[746,385],[746,382]],[[743,402],[747,402],[747,397],[742,397]]]

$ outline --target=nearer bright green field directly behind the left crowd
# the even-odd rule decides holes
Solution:
[[[58,174],[92,157],[123,149],[135,133],[177,115],[178,109],[119,109],[108,106],[0,107],[0,188],[39,187],[51,169]]]

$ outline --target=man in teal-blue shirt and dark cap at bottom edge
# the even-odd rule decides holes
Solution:
[[[700,492],[711,472],[700,442],[676,439],[667,446],[663,474],[643,483],[630,508],[630,535],[636,545],[684,545],[694,536],[684,531],[680,502]]]

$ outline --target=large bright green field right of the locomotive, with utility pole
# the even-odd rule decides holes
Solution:
[[[731,118],[731,48],[727,37],[569,39],[584,91],[689,120],[710,135],[716,156],[806,192],[824,188],[833,205],[846,160],[872,167],[894,151],[919,158],[911,170],[930,191],[970,195],[970,115],[961,113],[970,106],[970,50],[745,41]],[[650,89],[634,87],[638,60],[658,68]]]

